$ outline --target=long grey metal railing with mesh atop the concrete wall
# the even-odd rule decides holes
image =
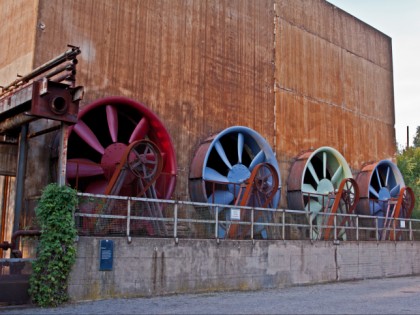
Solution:
[[[78,193],[79,235],[413,241],[420,220]],[[334,216],[332,224],[328,218]],[[331,222],[331,221],[330,221]],[[387,222],[386,225],[383,222]],[[235,233],[231,233],[232,231]]]

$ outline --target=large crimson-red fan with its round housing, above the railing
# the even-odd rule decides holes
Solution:
[[[126,97],[99,99],[79,112],[78,122],[70,127],[67,150],[68,183],[79,191],[102,194],[127,147],[148,139],[160,150],[163,159],[155,191],[169,199],[175,189],[176,157],[170,136],[159,118],[145,105]],[[126,176],[120,195],[137,196]]]

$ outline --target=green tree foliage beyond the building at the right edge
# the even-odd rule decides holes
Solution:
[[[408,148],[397,155],[397,165],[416,197],[413,217],[420,219],[420,147]]]

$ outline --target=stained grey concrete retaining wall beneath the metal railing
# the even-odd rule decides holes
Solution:
[[[103,239],[103,238],[102,238]],[[109,238],[111,271],[99,271],[101,238],[81,237],[71,300],[153,296],[420,274],[420,242],[220,241]]]

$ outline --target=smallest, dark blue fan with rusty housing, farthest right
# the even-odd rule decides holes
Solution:
[[[389,160],[365,165],[356,177],[360,188],[359,214],[385,216],[388,200],[397,198],[404,179],[398,167]]]

